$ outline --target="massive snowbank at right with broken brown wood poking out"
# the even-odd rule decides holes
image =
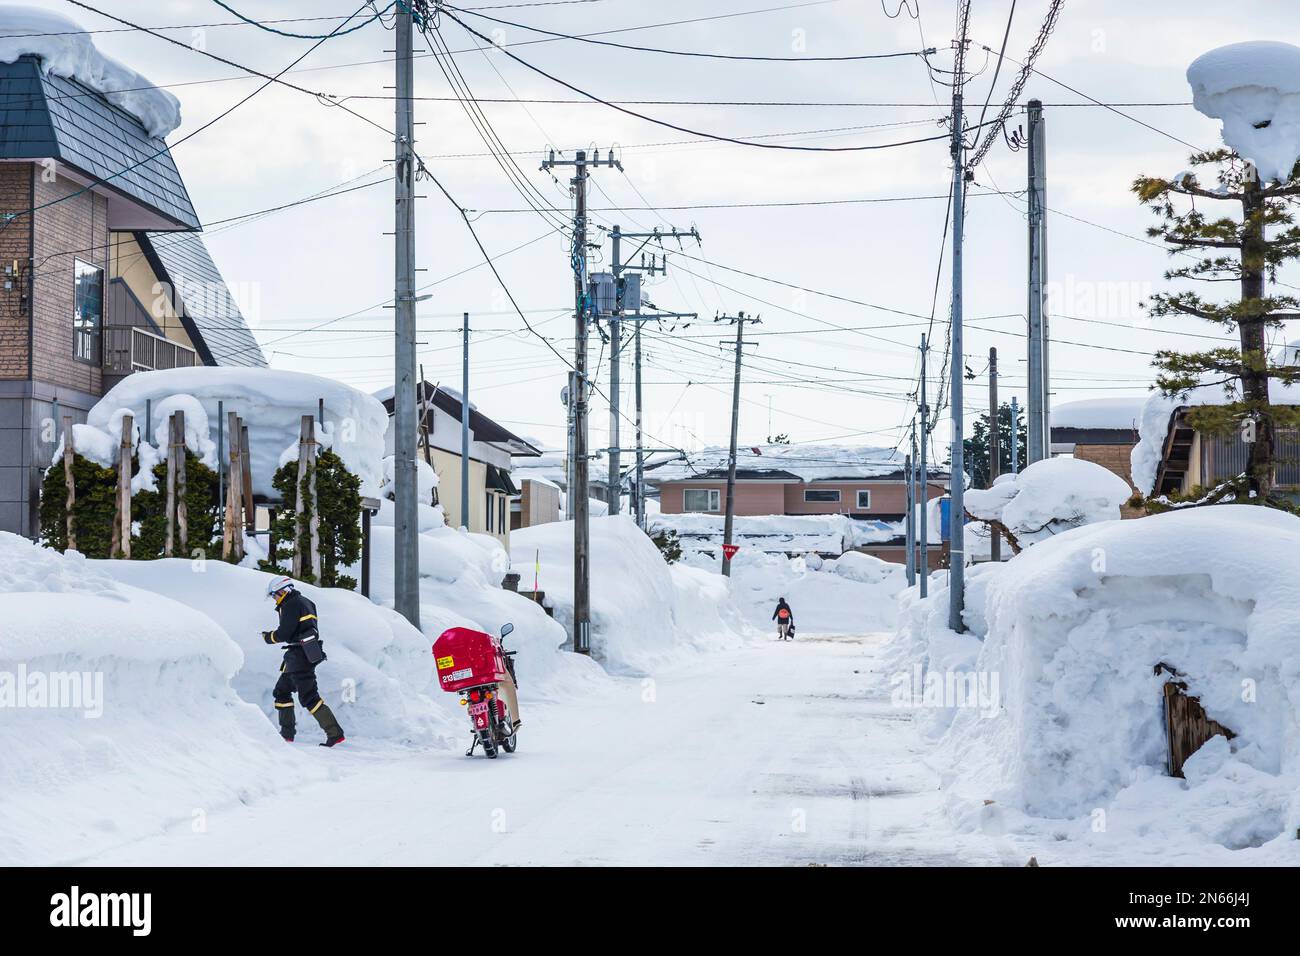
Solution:
[[[892,661],[992,679],[992,708],[926,714],[959,821],[1050,839],[1062,860],[1297,862],[1300,519],[1234,505],[1093,524],[971,585],[965,635],[946,589],[905,600]],[[1186,780],[1165,773],[1161,662],[1238,735]]]

